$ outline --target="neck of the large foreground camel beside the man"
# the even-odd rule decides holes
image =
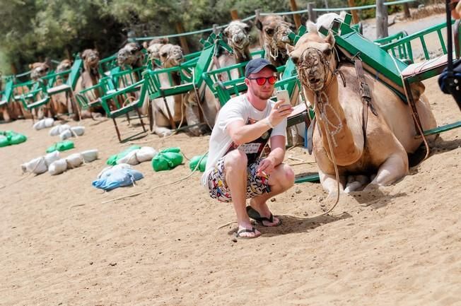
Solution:
[[[315,101],[317,127],[320,128],[322,143],[330,160],[332,160],[332,152],[338,165],[350,165],[361,157],[363,139],[354,139],[354,133],[348,125],[346,114],[339,102],[338,87],[337,76],[333,76],[325,92],[316,94],[313,90],[305,88],[305,93],[310,101]],[[327,139],[328,132],[332,151]]]

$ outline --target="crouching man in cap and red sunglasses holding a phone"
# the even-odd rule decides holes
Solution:
[[[230,99],[218,113],[211,132],[209,156],[202,184],[212,198],[233,202],[237,237],[261,235],[250,218],[262,226],[278,226],[266,201],[294,184],[285,156],[286,117],[291,105],[269,100],[274,92],[276,68],[266,59],[252,59],[245,69],[244,95]],[[267,142],[270,139],[270,149]],[[265,154],[264,154],[265,153]],[[250,206],[246,205],[250,199]]]

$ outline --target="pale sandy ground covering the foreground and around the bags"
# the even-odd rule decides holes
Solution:
[[[426,81],[438,124],[461,112],[435,79]],[[76,125],[75,122],[71,124]],[[100,159],[62,175],[21,175],[21,163],[56,138],[30,120],[0,124],[28,136],[0,148],[0,305],[461,305],[461,129],[441,134],[421,165],[373,194],[332,204],[320,184],[296,184],[269,203],[281,216],[262,237],[233,241],[230,204],[199,187],[187,164],[154,172],[136,187],[91,186],[105,160],[127,148],[112,122],[82,122],[86,134],[62,156],[98,148]],[[140,131],[119,120],[122,134]],[[206,152],[209,136],[138,142]],[[287,153],[297,176],[315,171],[303,148]],[[17,180],[23,178],[20,182]],[[138,196],[103,203],[119,196]]]

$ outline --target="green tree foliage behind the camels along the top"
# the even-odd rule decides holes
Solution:
[[[298,9],[308,1],[296,0]],[[356,0],[356,5],[374,3]],[[347,6],[346,0],[315,0],[317,7]],[[64,59],[86,48],[102,57],[117,52],[136,37],[175,34],[176,24],[186,32],[230,22],[230,11],[240,18],[262,12],[289,11],[290,1],[273,0],[9,0],[0,1],[0,71],[18,72],[45,57]],[[288,16],[289,17],[289,16]],[[209,35],[206,33],[204,36]],[[192,50],[200,35],[187,37]],[[172,40],[177,42],[177,40]],[[191,51],[192,51],[191,50]],[[16,72],[16,71],[15,71]]]

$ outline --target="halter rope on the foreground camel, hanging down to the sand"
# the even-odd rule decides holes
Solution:
[[[316,52],[317,55],[320,57],[320,63],[322,64],[323,69],[324,69],[324,71],[326,73],[326,76],[327,76],[326,77],[327,83],[325,83],[324,86],[322,87],[322,89],[320,89],[320,90],[314,90],[312,88],[312,86],[310,86],[307,69],[310,66],[313,66],[313,59],[312,60],[308,59],[307,52],[309,52],[309,51]],[[332,52],[337,54],[336,49],[334,49],[334,48],[333,48]],[[334,55],[334,54],[333,53],[330,54],[330,57],[332,57],[332,55]],[[334,175],[336,176],[336,182],[337,182],[337,197],[336,197],[336,201],[334,202],[334,204],[333,204],[333,206],[331,208],[329,208],[327,211],[325,211],[325,213],[321,213],[319,215],[319,216],[324,216],[324,215],[327,215],[330,211],[332,211],[334,209],[334,207],[336,207],[338,202],[339,202],[339,171],[338,171],[338,166],[337,166],[337,163],[336,163],[336,158],[334,157],[332,145],[334,145],[334,147],[337,148],[338,145],[337,145],[336,139],[334,139],[334,135],[339,133],[339,131],[341,131],[341,129],[343,127],[341,118],[339,117],[339,114],[329,104],[328,95],[327,95],[326,91],[328,89],[328,86],[332,83],[333,78],[334,78],[335,75],[339,74],[339,76],[341,77],[341,80],[342,80],[342,83],[343,83],[344,87],[346,87],[346,78],[344,78],[344,73],[342,73],[342,71],[339,71],[339,69],[334,69],[333,70],[329,66],[329,60],[325,57],[325,54],[323,54],[323,52],[321,52],[319,49],[316,49],[316,48],[313,48],[313,47],[309,47],[309,48],[305,49],[303,51],[303,53],[301,54],[301,59],[303,59],[303,61],[299,65],[296,66],[296,71],[298,72],[298,78],[299,78],[299,80],[300,80],[300,82],[301,82],[301,84],[303,86],[309,88],[314,93],[314,97],[315,97],[315,101],[314,101],[315,105],[314,105],[314,107],[317,110],[317,112],[320,113],[320,118],[318,118],[318,121],[322,122],[322,125],[323,125],[325,131],[327,131],[326,136],[327,136],[328,147],[329,147],[329,155],[330,155],[330,158],[331,158],[332,163],[334,165]],[[327,107],[329,108],[329,110],[331,110],[333,112],[334,117],[336,117],[337,122],[338,122],[337,125],[335,125],[333,122],[331,122],[328,119],[328,117],[327,117]],[[334,130],[330,131],[329,126],[332,126],[334,128]],[[313,217],[310,217],[310,218],[313,218]]]

